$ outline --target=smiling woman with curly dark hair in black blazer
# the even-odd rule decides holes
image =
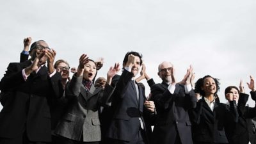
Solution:
[[[224,127],[227,122],[236,122],[238,113],[235,100],[230,100],[230,106],[220,103],[219,85],[218,79],[209,75],[195,83],[195,91],[202,99],[190,113],[194,144],[228,143]]]

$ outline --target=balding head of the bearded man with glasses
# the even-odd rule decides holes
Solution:
[[[168,61],[163,61],[163,63],[160,63],[158,66],[158,76],[166,83],[171,83],[171,71],[172,71],[173,65],[172,63]]]

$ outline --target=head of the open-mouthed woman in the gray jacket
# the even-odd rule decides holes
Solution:
[[[84,65],[84,74],[83,78],[92,81],[96,76],[96,64],[93,60],[89,59],[88,62]]]

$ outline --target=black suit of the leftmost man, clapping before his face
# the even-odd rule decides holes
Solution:
[[[4,98],[0,113],[0,139],[13,139],[26,131],[30,141],[51,141],[50,106],[63,93],[61,76],[56,72],[49,77],[44,65],[24,81],[22,69],[29,65],[30,60],[10,63],[1,79],[1,92],[12,93]]]

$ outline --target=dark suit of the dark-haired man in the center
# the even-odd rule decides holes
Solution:
[[[150,117],[150,113],[143,106],[145,93],[137,84],[137,97],[136,85],[132,81],[132,77],[132,72],[124,69],[116,84],[115,92],[111,97],[113,118],[106,132],[106,137],[115,143],[123,143],[124,141],[129,143],[134,138],[137,138],[140,131],[143,134],[147,131],[144,118],[145,116]],[[143,127],[143,130],[141,127]],[[143,141],[148,143],[147,136],[143,135]]]

